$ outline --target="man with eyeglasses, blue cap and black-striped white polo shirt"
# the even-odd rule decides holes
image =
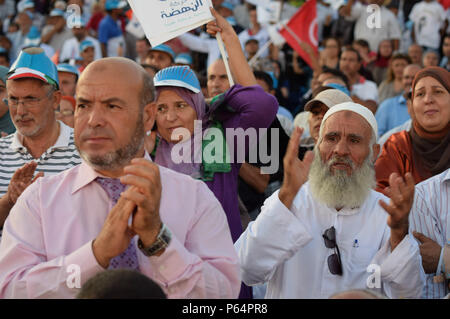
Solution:
[[[0,227],[36,178],[81,162],[73,130],[55,118],[61,100],[58,73],[42,49],[20,53],[7,74],[6,89],[5,103],[17,131],[0,139]]]

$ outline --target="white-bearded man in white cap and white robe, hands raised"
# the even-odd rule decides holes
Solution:
[[[330,108],[314,156],[303,161],[301,134],[296,128],[291,136],[281,189],[235,244],[244,283],[267,282],[266,298],[329,298],[366,288],[420,298],[425,273],[408,233],[414,181],[392,174],[390,198],[373,190],[373,113],[353,102]]]

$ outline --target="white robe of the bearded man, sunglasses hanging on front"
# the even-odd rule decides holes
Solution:
[[[418,245],[407,235],[391,252],[388,215],[378,204],[380,199],[389,200],[370,191],[360,208],[337,212],[317,202],[306,183],[289,210],[275,192],[235,243],[243,281],[268,282],[266,298],[329,298],[348,289],[366,289],[379,266],[378,292],[391,298],[419,298],[425,274]],[[327,258],[334,250],[326,248],[322,234],[331,226],[336,229],[342,276],[328,269]],[[375,266],[368,268],[371,264]]]

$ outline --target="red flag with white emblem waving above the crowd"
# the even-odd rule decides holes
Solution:
[[[298,55],[312,67],[311,58],[298,42],[306,42],[316,54],[318,53],[316,0],[305,2],[292,16],[291,20],[286,23],[285,27],[280,30],[280,34],[297,51]]]

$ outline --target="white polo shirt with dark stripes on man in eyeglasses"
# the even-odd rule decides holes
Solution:
[[[35,173],[44,172],[45,176],[56,175],[81,163],[74,143],[73,129],[61,121],[59,125],[60,133],[56,143],[36,159],[22,145],[23,137],[18,132],[0,138],[0,196],[6,194],[14,172],[30,161],[38,164]]]

